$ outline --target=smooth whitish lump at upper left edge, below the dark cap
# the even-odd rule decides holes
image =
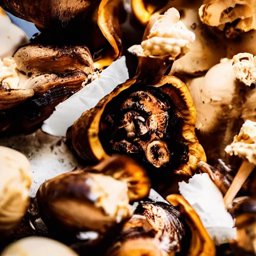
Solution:
[[[19,46],[28,42],[26,33],[0,7],[0,58],[12,56]]]

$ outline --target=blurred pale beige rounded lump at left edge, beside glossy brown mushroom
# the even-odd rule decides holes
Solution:
[[[30,164],[20,152],[0,146],[0,231],[13,228],[29,203]]]

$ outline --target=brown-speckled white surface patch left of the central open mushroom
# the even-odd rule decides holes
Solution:
[[[18,150],[28,158],[32,171],[31,197],[45,180],[81,167],[66,147],[63,137],[51,136],[40,129],[29,135],[0,138],[0,145]]]

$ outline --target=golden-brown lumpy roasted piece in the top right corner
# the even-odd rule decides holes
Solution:
[[[253,0],[204,0],[203,3],[199,8],[201,21],[217,26],[228,38],[256,28],[256,3]]]

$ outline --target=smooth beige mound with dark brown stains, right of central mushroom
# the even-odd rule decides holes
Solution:
[[[234,59],[239,59],[239,55]],[[197,111],[197,136],[209,163],[218,158],[224,159],[225,146],[232,142],[246,119],[256,120],[256,89],[237,79],[246,77],[246,62],[239,61],[240,67],[236,68],[233,61],[236,62],[224,58],[204,76],[187,83]]]

